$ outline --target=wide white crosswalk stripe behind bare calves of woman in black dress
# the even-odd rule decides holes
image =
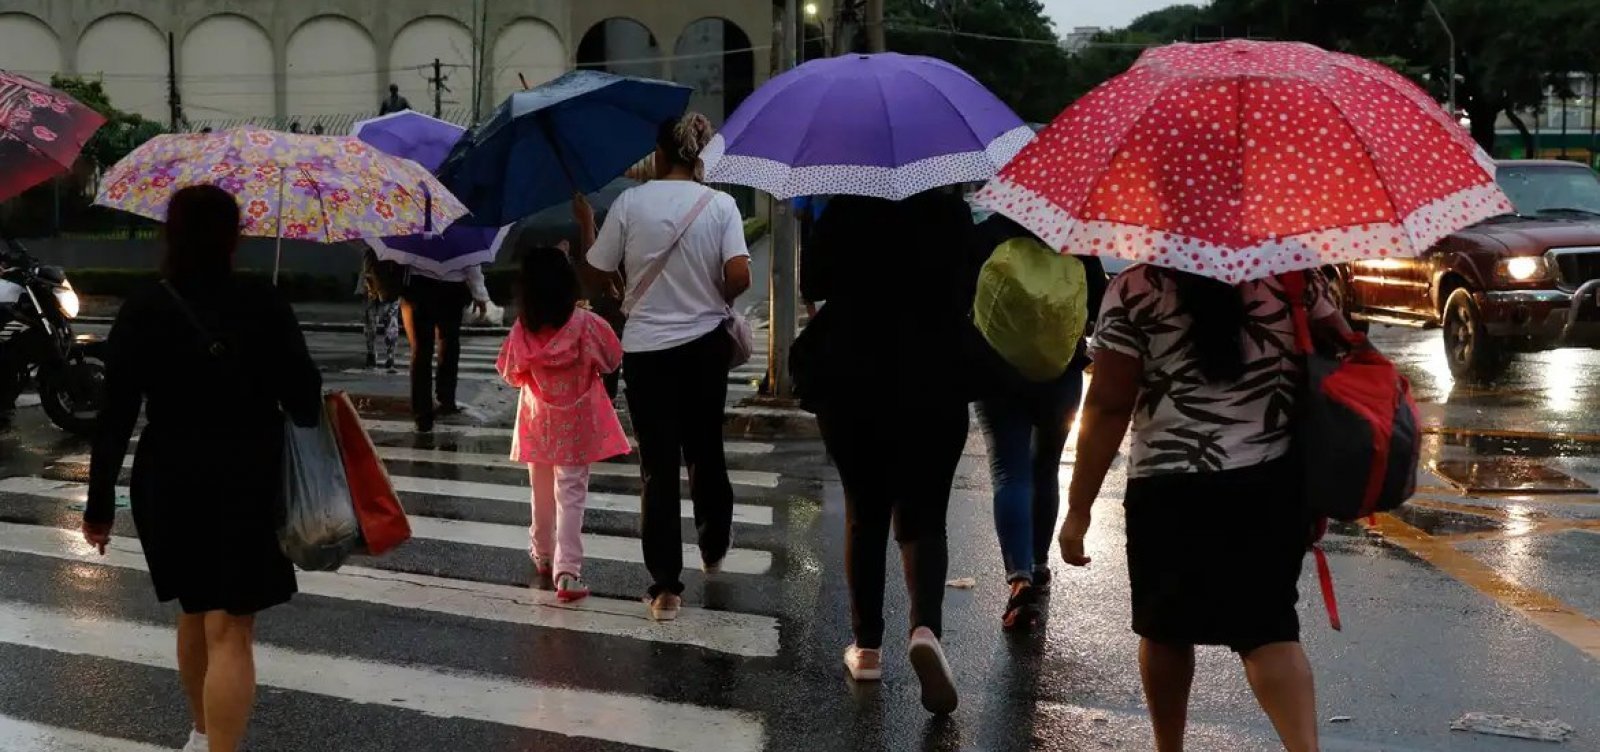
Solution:
[[[3,602],[0,642],[174,670],[174,630]],[[262,686],[646,749],[762,749],[754,714],[256,645]]]

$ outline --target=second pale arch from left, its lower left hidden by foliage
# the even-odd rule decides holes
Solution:
[[[166,35],[144,16],[112,13],[83,27],[78,75],[101,77],[112,106],[168,122]]]

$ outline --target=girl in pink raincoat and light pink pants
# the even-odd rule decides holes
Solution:
[[[510,458],[533,483],[530,555],[539,578],[555,578],[563,602],[589,595],[582,579],[589,466],[629,453],[602,376],[622,363],[611,325],[579,304],[578,274],[558,248],[523,253],[522,314],[496,368],[518,387]]]

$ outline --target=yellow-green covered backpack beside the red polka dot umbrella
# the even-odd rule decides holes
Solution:
[[[1083,262],[1027,237],[1000,243],[978,275],[973,322],[1022,378],[1056,379],[1088,323]]]

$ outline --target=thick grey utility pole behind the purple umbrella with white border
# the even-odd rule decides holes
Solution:
[[[792,70],[798,59],[795,37],[800,32],[800,0],[784,2],[784,38],[778,50],[779,74]],[[794,202],[773,198],[773,262],[768,275],[766,304],[770,306],[766,328],[766,382],[770,395],[781,400],[794,397],[789,378],[789,347],[800,328],[800,227],[795,221]]]

